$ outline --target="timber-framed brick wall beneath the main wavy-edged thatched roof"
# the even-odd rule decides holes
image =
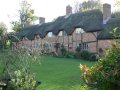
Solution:
[[[96,33],[83,33],[82,34],[82,39],[81,39],[81,34],[73,32],[73,35],[69,36],[53,36],[53,37],[48,37],[48,35],[44,38],[38,38],[39,36],[36,36],[34,40],[28,40],[26,38],[23,38],[22,41],[20,41],[18,44],[19,48],[34,48],[34,49],[39,49],[42,50],[44,49],[44,44],[49,44],[49,52],[54,52],[55,51],[55,43],[60,43],[60,45],[64,45],[65,48],[69,51],[75,52],[75,49],[79,44],[82,42],[86,42],[88,44],[88,50],[90,52],[96,52],[96,38],[95,36]],[[69,39],[68,39],[69,38]],[[69,44],[68,44],[69,41]],[[91,42],[93,41],[93,42]],[[69,47],[68,47],[69,46]]]

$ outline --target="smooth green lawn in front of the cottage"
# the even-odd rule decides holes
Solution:
[[[37,80],[42,82],[37,90],[85,90],[81,87],[84,83],[79,64],[92,66],[95,62],[44,56],[40,63],[32,67]]]

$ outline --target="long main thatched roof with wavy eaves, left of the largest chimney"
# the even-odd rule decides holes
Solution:
[[[54,35],[57,35],[61,30],[71,35],[75,28],[83,28],[85,32],[96,32],[103,29],[102,20],[103,15],[99,10],[74,13],[60,16],[53,22],[24,28],[18,32],[18,37],[21,39],[26,36],[32,40],[35,35],[44,38],[48,32],[53,32]]]

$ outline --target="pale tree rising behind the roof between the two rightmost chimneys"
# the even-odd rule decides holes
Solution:
[[[92,10],[92,9],[102,10],[102,4],[100,0],[88,0],[82,3],[76,2],[75,4],[75,13]]]

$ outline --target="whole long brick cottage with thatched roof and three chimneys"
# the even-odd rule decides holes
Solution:
[[[72,7],[66,7],[66,15],[59,16],[52,22],[45,23],[40,17],[40,24],[23,28],[16,33],[19,38],[14,42],[15,48],[30,48],[56,51],[56,47],[64,46],[68,51],[76,47],[96,53],[99,48],[110,47],[109,34],[115,27],[120,31],[120,20],[111,18],[111,5],[104,4],[103,12],[90,10],[72,13]]]

